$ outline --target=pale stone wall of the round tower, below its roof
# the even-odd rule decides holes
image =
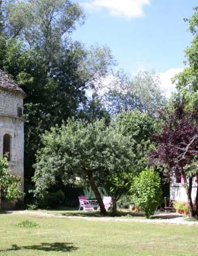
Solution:
[[[19,117],[18,108],[23,108],[23,96],[0,89],[0,156],[3,155],[4,135],[9,134],[11,138],[9,167],[13,174],[21,176],[23,191],[24,120]],[[1,207],[10,209],[11,205],[2,200]]]

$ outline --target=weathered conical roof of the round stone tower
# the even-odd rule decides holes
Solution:
[[[0,88],[4,90],[9,90],[15,93],[21,93],[23,97],[26,97],[26,93],[13,81],[11,80],[5,72],[0,69]]]

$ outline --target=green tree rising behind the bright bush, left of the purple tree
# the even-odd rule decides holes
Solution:
[[[155,148],[151,134],[159,131],[160,123],[160,119],[153,120],[147,113],[138,110],[122,111],[117,115],[116,126],[132,142],[132,168],[137,174],[149,165],[149,152]]]

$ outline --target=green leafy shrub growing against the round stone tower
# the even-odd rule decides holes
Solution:
[[[10,173],[6,157],[0,157],[0,200],[5,198],[13,202],[16,196],[23,196],[20,190],[21,178]]]

